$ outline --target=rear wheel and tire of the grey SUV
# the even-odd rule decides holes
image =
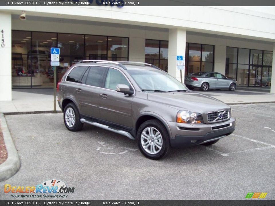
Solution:
[[[83,123],[80,122],[80,115],[74,103],[69,103],[65,106],[63,120],[66,128],[72,132],[82,129]]]

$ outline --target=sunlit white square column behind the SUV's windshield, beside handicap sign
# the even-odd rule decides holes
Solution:
[[[186,30],[169,29],[168,45],[168,74],[180,81],[180,70],[177,70],[176,56],[185,56]],[[182,70],[182,82],[184,83],[184,70]]]

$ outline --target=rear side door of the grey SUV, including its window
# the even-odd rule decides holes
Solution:
[[[82,116],[100,118],[99,92],[107,69],[108,67],[91,66],[76,87],[75,96]]]

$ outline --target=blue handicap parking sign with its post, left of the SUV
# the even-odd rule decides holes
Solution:
[[[59,66],[59,55],[60,49],[59,48],[51,48],[51,66],[52,70],[54,71],[54,112],[56,112],[56,66]]]

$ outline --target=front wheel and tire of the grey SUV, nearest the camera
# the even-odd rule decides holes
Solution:
[[[154,139],[150,138],[152,133]],[[164,158],[170,150],[168,131],[159,120],[148,120],[137,130],[137,144],[145,157],[152,160]]]

